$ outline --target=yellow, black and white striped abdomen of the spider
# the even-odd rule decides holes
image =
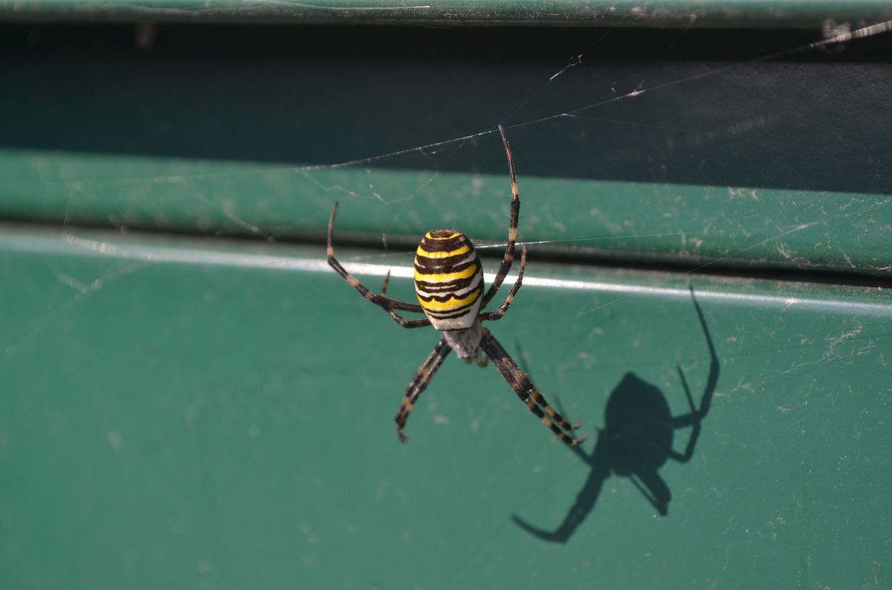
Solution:
[[[437,330],[467,330],[483,303],[483,268],[467,235],[425,234],[415,253],[415,292]]]

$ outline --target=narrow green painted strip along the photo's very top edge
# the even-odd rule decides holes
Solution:
[[[250,0],[3,0],[0,16],[28,20],[252,21],[421,25],[557,25],[647,27],[814,27],[828,18],[889,18],[879,0],[860,2],[760,2],[758,0],[675,0],[616,4],[605,0],[448,0],[407,4],[340,2],[256,3]]]

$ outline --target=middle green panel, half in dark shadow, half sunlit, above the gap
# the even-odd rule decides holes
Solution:
[[[14,29],[0,60],[6,219],[318,243],[340,200],[344,241],[498,242],[502,122],[551,258],[892,264],[880,29],[78,30]]]

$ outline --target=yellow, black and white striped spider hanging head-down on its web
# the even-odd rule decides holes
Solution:
[[[487,357],[489,357],[505,381],[508,381],[511,389],[514,389],[517,397],[520,397],[521,401],[530,408],[530,411],[558,435],[558,438],[567,445],[578,445],[585,440],[584,437],[573,438],[567,434],[567,432],[579,428],[580,423],[571,425],[549,406],[549,403],[527,379],[514,359],[508,356],[499,340],[496,340],[482,324],[486,321],[499,320],[502,315],[505,315],[508,306],[511,305],[517,291],[520,290],[526,266],[526,246],[524,246],[520,258],[520,271],[516,282],[508,291],[508,297],[496,311],[483,311],[499,291],[511,269],[511,264],[514,262],[517,217],[520,214],[520,196],[517,193],[514,159],[511,156],[511,148],[508,145],[504,127],[499,126],[499,132],[502,143],[505,145],[508,172],[511,176],[511,221],[508,227],[508,245],[505,247],[505,256],[502,258],[499,272],[485,294],[483,294],[483,267],[477,258],[474,244],[461,232],[452,229],[438,229],[427,232],[421,243],[418,244],[416,251],[415,292],[418,303],[398,301],[385,295],[387,283],[390,281],[390,273],[387,273],[384,278],[381,293],[376,295],[368,291],[365,285],[359,283],[335,258],[332,234],[335,231],[337,202],[335,202],[331,217],[328,219],[328,264],[335,269],[338,275],[341,275],[363,297],[376,306],[384,308],[391,315],[393,321],[403,328],[420,328],[431,325],[434,326],[434,329],[442,332],[442,337],[434,347],[434,351],[425,358],[425,362],[418,367],[412,381],[409,381],[406,395],[402,398],[400,410],[396,414],[396,430],[402,442],[406,441],[403,431],[409,420],[412,406],[415,405],[418,396],[434,378],[434,373],[437,372],[443,360],[449,356],[452,350],[455,350],[458,358],[467,364],[476,362],[477,365],[486,366]],[[425,317],[406,320],[395,310],[423,313]]]

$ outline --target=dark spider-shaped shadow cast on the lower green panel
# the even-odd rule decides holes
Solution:
[[[688,398],[690,413],[677,417],[673,417],[669,402],[660,389],[643,381],[634,373],[626,373],[623,381],[620,381],[607,398],[604,412],[605,427],[599,431],[591,455],[586,454],[581,447],[571,447],[591,471],[564,521],[558,529],[549,532],[534,527],[515,514],[511,518],[521,529],[546,541],[566,543],[594,508],[601,488],[611,473],[631,479],[657,512],[663,516],[668,514],[672,492],[666,485],[665,479],[660,476],[659,469],[669,459],[687,463],[694,455],[701,423],[709,412],[719,378],[718,356],[715,354],[713,340],[693,288],[690,290],[690,296],[697,310],[700,325],[703,327],[711,356],[706,388],[700,398],[699,407],[694,405],[688,381],[681,367],[677,368],[681,386]],[[560,411],[563,413],[563,409]],[[691,430],[687,446],[681,453],[675,451],[673,449],[675,430],[689,427]]]

